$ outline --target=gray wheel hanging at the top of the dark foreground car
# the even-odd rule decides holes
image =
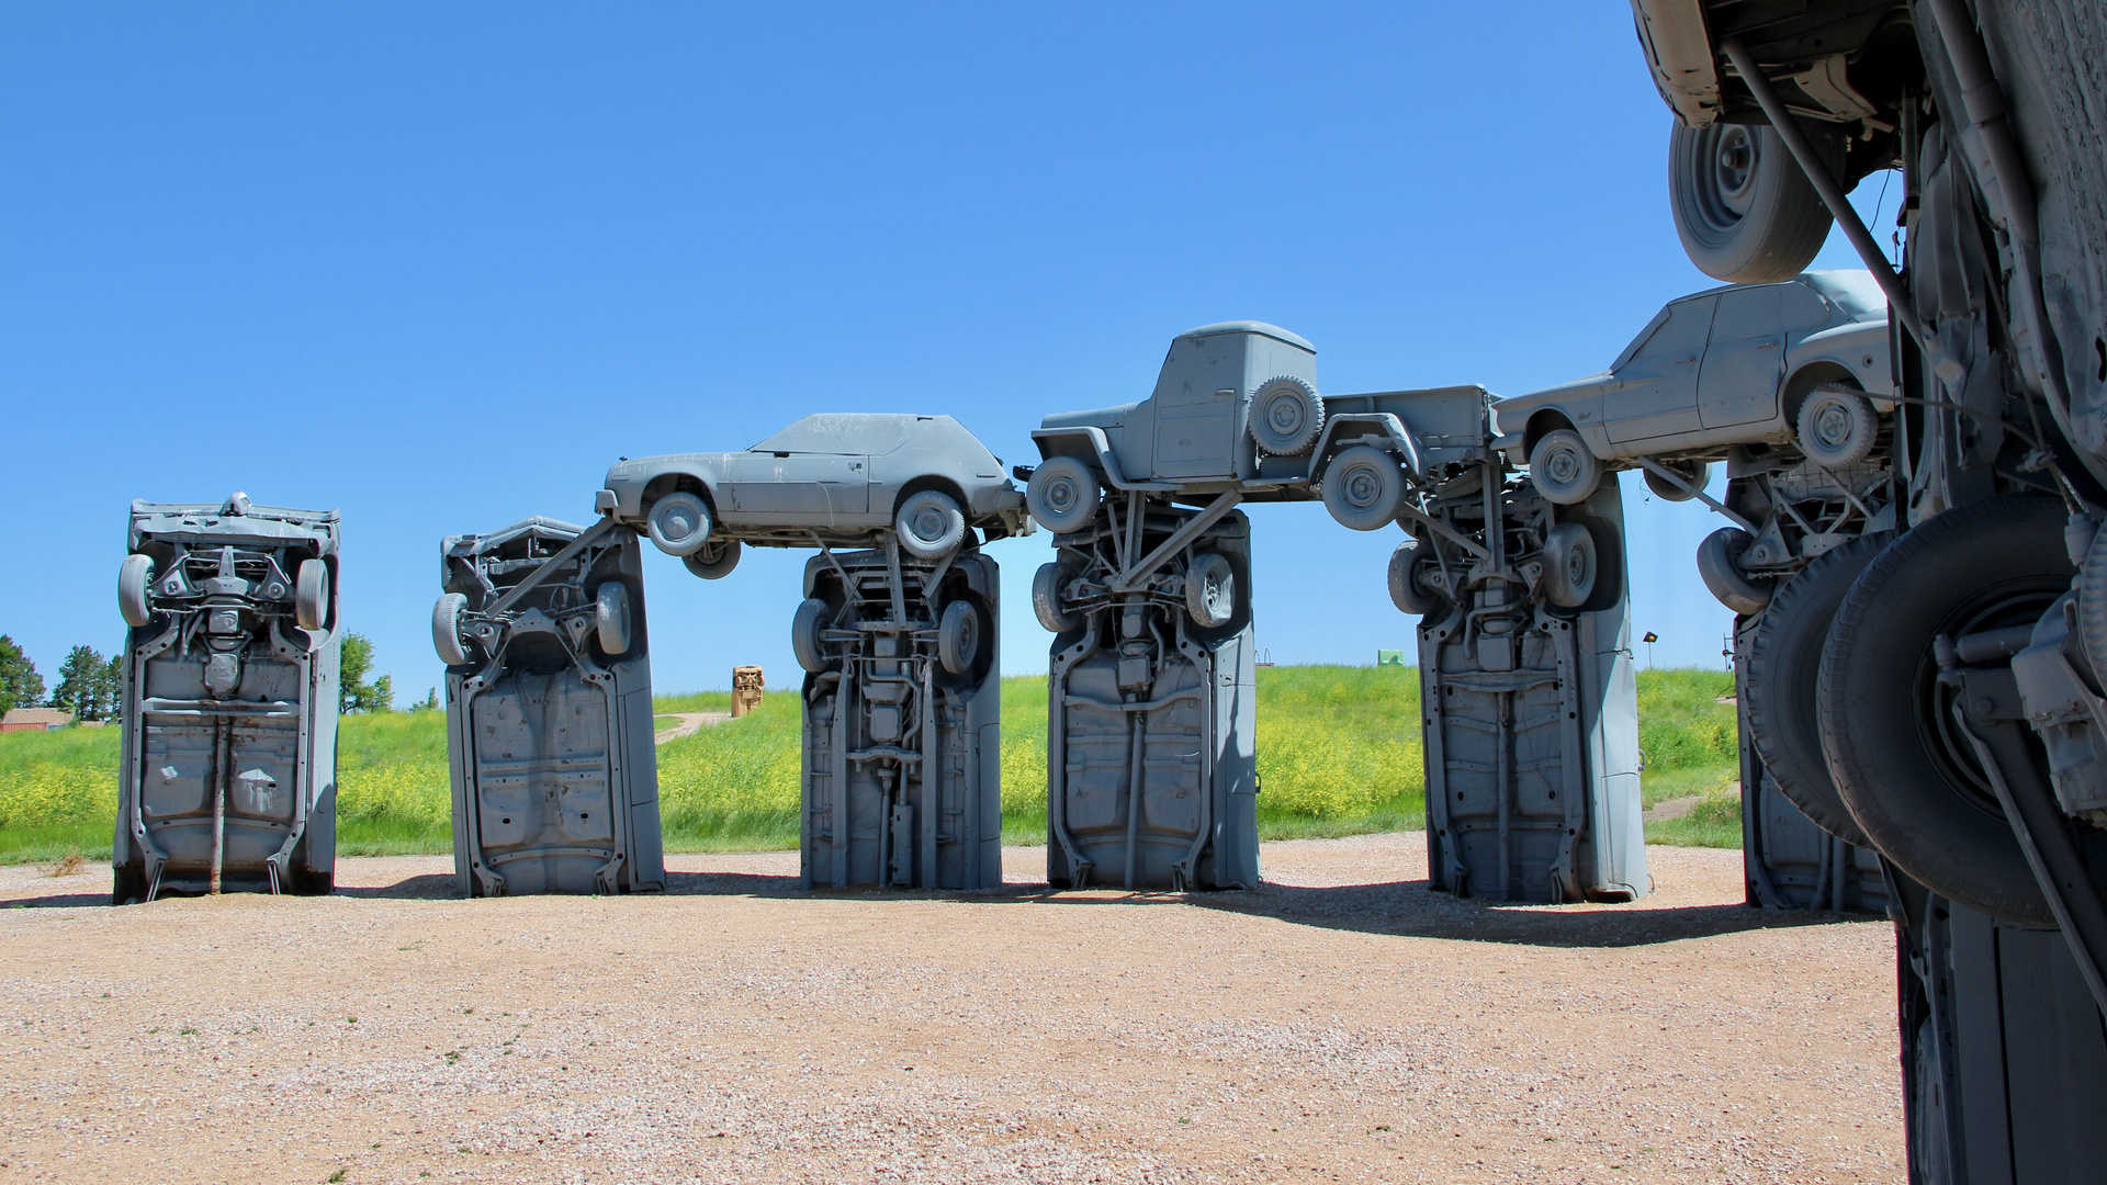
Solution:
[[[1730,285],[1791,280],[1829,238],[1829,209],[1776,129],[1715,122],[1669,133],[1669,209],[1683,255]]]

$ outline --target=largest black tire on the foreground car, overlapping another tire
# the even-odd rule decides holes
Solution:
[[[2059,500],[2006,496],[1896,538],[1837,607],[1816,692],[1823,757],[1873,846],[1932,892],[2033,926],[2048,902],[1932,643],[2040,620],[2071,584],[2065,523]]]

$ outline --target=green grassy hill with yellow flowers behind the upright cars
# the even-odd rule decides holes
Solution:
[[[1732,677],[1641,671],[1639,744],[1646,799],[1694,797],[1683,818],[1648,824],[1648,839],[1740,843],[1732,793]],[[1258,797],[1268,839],[1424,827],[1418,671],[1395,666],[1271,666],[1258,673]],[[1043,843],[1045,679],[1003,679],[1003,839]],[[659,696],[659,713],[729,708],[723,692]],[[0,736],[0,860],[55,860],[110,850],[118,732]],[[666,848],[721,852],[796,848],[799,711],[771,694],[754,715],[659,746]],[[343,719],[337,753],[337,850],[451,852],[447,719],[381,713]]]

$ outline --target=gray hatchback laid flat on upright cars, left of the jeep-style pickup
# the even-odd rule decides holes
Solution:
[[[689,571],[731,571],[740,544],[900,546],[940,559],[978,527],[1030,533],[1024,493],[1003,462],[950,415],[807,415],[735,453],[668,453],[607,470],[598,510],[681,557]]]

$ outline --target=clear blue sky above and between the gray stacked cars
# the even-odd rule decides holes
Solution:
[[[1230,318],[1334,392],[1578,377],[1711,285],[1667,135],[1622,0],[11,4],[0,633],[46,679],[110,654],[129,502],[244,489],[343,510],[346,620],[407,700],[438,540],[588,521],[617,455],[921,411],[1030,462]],[[1717,664],[1719,519],[1627,504],[1635,635]],[[1397,531],[1252,519],[1277,662],[1410,647]],[[1045,671],[1047,536],[992,555],[1005,668]],[[788,685],[803,561],[649,552],[657,687]]]

